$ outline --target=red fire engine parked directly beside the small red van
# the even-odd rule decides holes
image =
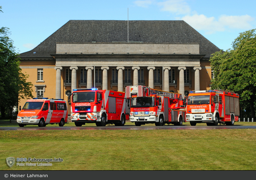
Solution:
[[[126,112],[128,100],[124,92],[97,88],[74,89],[71,96],[71,121],[76,126],[85,123],[95,123],[96,126],[124,126],[129,119],[129,112]]]

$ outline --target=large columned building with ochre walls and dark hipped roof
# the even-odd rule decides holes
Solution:
[[[67,100],[76,88],[129,85],[184,97],[210,89],[209,58],[219,50],[184,21],[70,20],[20,54],[20,67],[35,97]]]

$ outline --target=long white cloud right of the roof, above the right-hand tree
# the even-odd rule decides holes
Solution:
[[[228,16],[221,15],[216,20],[215,17],[206,17],[206,15],[186,15],[181,18],[196,30],[205,30],[206,34],[212,34],[218,31],[225,31],[228,28],[248,29],[252,28],[249,22],[254,18],[249,15]]]

